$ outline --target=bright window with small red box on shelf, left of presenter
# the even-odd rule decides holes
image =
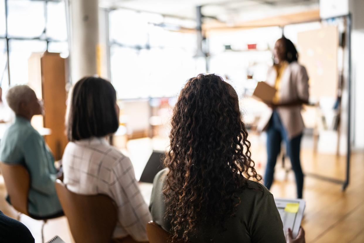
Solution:
[[[210,70],[226,76],[238,94],[250,95],[258,81],[265,81],[274,43],[281,36],[279,27],[212,32]]]

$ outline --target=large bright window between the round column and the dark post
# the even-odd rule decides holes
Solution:
[[[111,81],[121,99],[173,97],[206,71],[205,59],[194,57],[194,21],[118,9],[109,26]]]

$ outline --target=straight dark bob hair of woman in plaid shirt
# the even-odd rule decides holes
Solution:
[[[115,102],[116,91],[109,81],[98,77],[80,79],[72,90],[68,107],[68,140],[115,133],[119,127]]]

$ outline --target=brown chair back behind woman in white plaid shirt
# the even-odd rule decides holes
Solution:
[[[76,243],[110,243],[118,210],[106,195],[80,195],[56,180],[56,191]]]

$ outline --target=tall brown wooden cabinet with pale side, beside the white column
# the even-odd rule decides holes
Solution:
[[[65,134],[66,70],[59,53],[33,53],[28,59],[28,85],[44,102],[44,115],[34,116],[32,126],[44,137],[56,160],[67,145]],[[49,132],[46,131],[47,128]],[[43,129],[42,129],[43,128]]]

